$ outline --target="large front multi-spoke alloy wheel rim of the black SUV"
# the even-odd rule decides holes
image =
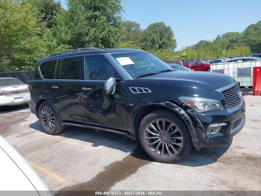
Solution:
[[[151,121],[145,130],[145,141],[149,149],[161,157],[172,157],[183,146],[183,136],[179,127],[170,120]]]

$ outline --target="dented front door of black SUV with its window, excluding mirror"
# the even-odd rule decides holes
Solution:
[[[115,93],[106,94],[104,82],[110,77],[119,78],[116,70],[103,56],[86,56],[84,68],[86,80],[81,84],[82,122],[128,130],[125,82],[118,81]]]

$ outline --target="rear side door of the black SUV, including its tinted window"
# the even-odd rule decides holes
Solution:
[[[83,57],[58,60],[55,78],[51,83],[50,97],[55,102],[63,120],[78,121],[80,119],[82,69]]]

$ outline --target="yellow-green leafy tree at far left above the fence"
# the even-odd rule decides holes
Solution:
[[[0,71],[30,70],[44,55],[36,12],[26,1],[0,2]]]

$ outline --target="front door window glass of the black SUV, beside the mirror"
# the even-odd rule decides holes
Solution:
[[[85,57],[86,80],[107,80],[115,77],[114,69],[102,56]]]

